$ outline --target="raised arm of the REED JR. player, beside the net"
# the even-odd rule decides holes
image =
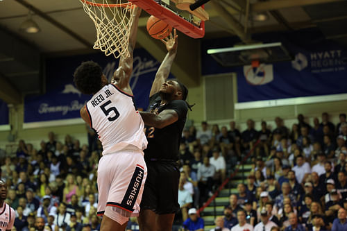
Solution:
[[[115,83],[117,87],[128,94],[133,94],[133,91],[130,88],[129,80],[131,73],[133,72],[133,51],[135,49],[136,37],[137,37],[137,25],[139,23],[139,15],[141,14],[141,8],[136,7],[133,11],[133,14],[130,17],[133,17],[133,23],[130,26],[130,35],[129,35],[129,45],[128,51],[130,57],[121,56],[119,60],[119,66],[115,73],[111,83]]]

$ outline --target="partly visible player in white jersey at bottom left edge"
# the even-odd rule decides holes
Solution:
[[[0,230],[11,230],[15,223],[15,209],[6,204],[7,198],[6,182],[0,180]]]

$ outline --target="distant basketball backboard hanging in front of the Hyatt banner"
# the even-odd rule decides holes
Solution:
[[[272,63],[293,60],[281,42],[209,49],[208,54],[223,67],[251,65],[254,61]]]

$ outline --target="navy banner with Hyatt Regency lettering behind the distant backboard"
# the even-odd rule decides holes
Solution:
[[[235,38],[203,45],[203,74],[237,73],[238,102],[347,93],[347,50],[323,40],[315,30],[257,35],[255,40],[282,42],[295,60],[258,67],[221,67],[205,51],[233,46]],[[207,65],[208,64],[208,65]]]

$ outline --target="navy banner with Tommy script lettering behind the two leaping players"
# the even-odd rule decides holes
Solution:
[[[46,94],[25,97],[24,123],[80,118],[79,111],[91,96],[83,95],[76,89],[73,74],[81,62],[88,60],[99,63],[109,80],[119,63],[119,59],[112,55],[106,57],[103,53],[46,60]],[[149,91],[159,66],[160,62],[146,50],[135,49],[130,86],[139,109],[146,109],[149,104]]]

